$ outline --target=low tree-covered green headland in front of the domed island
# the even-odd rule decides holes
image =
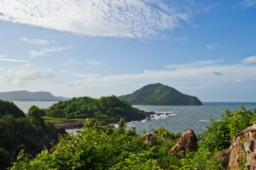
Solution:
[[[130,102],[119,100],[116,96],[102,96],[99,99],[91,97],[74,97],[67,101],[55,103],[47,110],[47,116],[56,118],[101,118],[102,115],[115,118],[116,116],[131,116],[140,113]]]

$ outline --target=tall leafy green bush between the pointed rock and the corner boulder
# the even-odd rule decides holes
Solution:
[[[215,121],[210,119],[210,125],[204,133],[198,135],[200,140],[199,146],[209,147],[210,150],[221,150],[230,146],[233,137],[244,130],[245,128],[254,125],[256,119],[256,110],[246,110],[244,105],[241,105],[241,111],[230,112],[225,109],[226,114],[221,115],[221,119]]]

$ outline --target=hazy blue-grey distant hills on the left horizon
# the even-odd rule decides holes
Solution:
[[[56,97],[49,92],[29,92],[29,91],[10,91],[0,93],[2,100],[28,100],[28,101],[61,101],[67,100],[65,97]]]

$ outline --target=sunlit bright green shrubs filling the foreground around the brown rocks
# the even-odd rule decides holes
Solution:
[[[119,127],[110,125],[109,119],[96,124],[87,119],[84,131],[77,135],[60,138],[52,152],[42,151],[35,159],[20,152],[19,162],[11,170],[221,170],[219,150],[227,148],[236,133],[256,123],[256,109],[230,112],[221,119],[210,119],[204,133],[198,135],[198,150],[182,151],[179,156],[167,154],[180,137],[166,129],[152,132],[157,144],[148,148],[136,128],[126,130],[121,119]],[[243,169],[244,167],[241,167]]]

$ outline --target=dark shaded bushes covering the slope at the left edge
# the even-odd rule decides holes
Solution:
[[[45,111],[36,106],[29,108],[29,115],[9,101],[0,100],[0,148],[13,153],[22,145],[26,151],[35,149],[40,140],[55,128],[44,122],[41,114]]]

